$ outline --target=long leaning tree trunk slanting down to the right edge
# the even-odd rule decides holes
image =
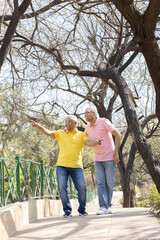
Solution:
[[[101,67],[99,68],[101,70]],[[123,103],[127,124],[133,138],[133,141],[139,151],[142,159],[144,160],[147,169],[156,184],[158,192],[160,193],[160,162],[153,152],[150,143],[144,137],[142,129],[139,125],[134,103],[130,97],[130,90],[125,82],[124,78],[120,76],[119,71],[114,67],[107,67],[106,71],[102,69],[102,74],[109,74],[111,79],[119,89],[119,94]]]

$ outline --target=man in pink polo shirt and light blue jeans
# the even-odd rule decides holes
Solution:
[[[85,128],[86,135],[91,140],[101,140],[101,144],[94,147],[94,166],[100,206],[97,215],[109,214],[112,213],[109,208],[112,205],[114,170],[116,163],[119,162],[118,149],[121,136],[108,119],[97,117],[96,109],[88,107],[84,115],[89,122]]]

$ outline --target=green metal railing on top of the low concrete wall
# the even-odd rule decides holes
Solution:
[[[0,207],[29,198],[59,199],[56,170],[45,166],[43,160],[38,163],[19,157],[0,158],[0,193]],[[77,197],[71,178],[68,193],[70,198]],[[96,194],[96,191],[87,191],[87,201],[91,201]]]

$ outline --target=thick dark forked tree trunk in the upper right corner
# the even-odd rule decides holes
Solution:
[[[132,0],[112,2],[131,25],[134,41],[139,45],[145,58],[156,91],[156,114],[160,120],[160,49],[155,37],[160,2],[150,0],[143,14],[134,7]]]

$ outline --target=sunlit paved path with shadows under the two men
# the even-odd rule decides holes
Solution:
[[[9,240],[160,240],[160,221],[146,208],[121,208],[114,197],[113,214],[98,216],[98,206],[89,215],[39,219],[18,231]]]

